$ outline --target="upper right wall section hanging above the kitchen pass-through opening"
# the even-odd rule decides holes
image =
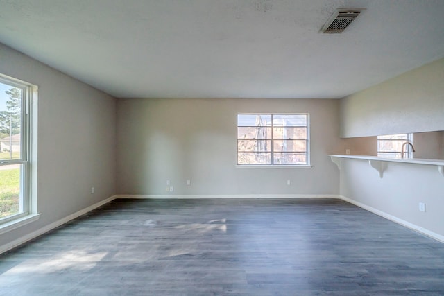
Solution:
[[[444,58],[341,99],[341,137],[444,130]]]

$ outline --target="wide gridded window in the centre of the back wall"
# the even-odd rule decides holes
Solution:
[[[238,114],[237,164],[309,166],[309,114]]]

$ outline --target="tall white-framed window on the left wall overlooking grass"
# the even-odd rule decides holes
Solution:
[[[36,213],[31,193],[35,91],[32,85],[0,76],[0,228]]]

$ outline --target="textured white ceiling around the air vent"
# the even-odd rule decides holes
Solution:
[[[0,42],[117,97],[341,98],[444,57],[444,1],[0,0]]]

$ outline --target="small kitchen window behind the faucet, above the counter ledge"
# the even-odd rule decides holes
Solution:
[[[412,134],[387,134],[377,136],[377,156],[401,158],[402,144],[413,143]],[[411,158],[413,152],[410,145],[404,147],[404,158]]]

